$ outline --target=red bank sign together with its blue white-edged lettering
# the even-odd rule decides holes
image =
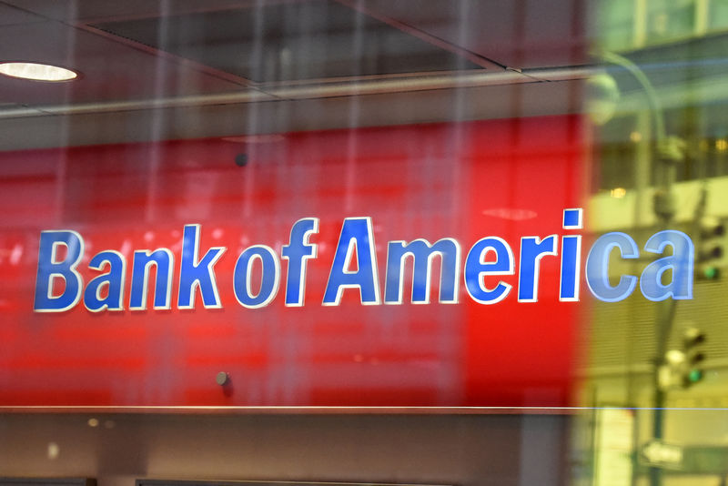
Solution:
[[[648,257],[692,261],[680,238],[653,254],[626,230],[637,260],[597,239],[582,133],[548,116],[0,153],[0,406],[570,406],[591,292],[624,274],[646,302]]]

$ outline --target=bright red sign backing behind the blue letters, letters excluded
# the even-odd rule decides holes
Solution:
[[[559,258],[541,260],[540,301],[361,306],[357,290],[322,307],[344,218],[373,219],[379,284],[387,242],[456,238],[461,260],[486,236],[564,234],[583,207],[581,120],[521,118],[285,134],[283,137],[72,147],[0,154],[0,405],[562,406],[570,404],[584,306],[560,302]],[[238,167],[235,157],[248,155]],[[306,304],[244,309],[232,291],[240,252],[279,255],[299,218],[320,218]],[[176,307],[181,233],[202,226],[223,309]],[[41,230],[103,249],[175,254],[170,310],[33,312]],[[517,268],[518,269],[518,268]],[[436,272],[434,275],[438,275]],[[411,275],[409,277],[411,279]],[[489,280],[495,282],[493,278]],[[150,290],[150,298],[152,291]],[[151,299],[150,299],[151,301]],[[231,387],[215,382],[227,371]]]

